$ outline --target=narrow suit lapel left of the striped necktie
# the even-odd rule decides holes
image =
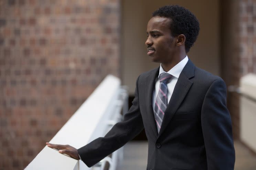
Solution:
[[[148,113],[148,119],[149,119],[149,124],[152,127],[153,133],[155,134],[155,136],[158,136],[158,132],[157,132],[157,126],[155,123],[155,119],[154,119],[154,113],[153,113],[153,108],[152,108],[152,95],[153,95],[153,90],[154,87],[156,85],[156,77],[159,74],[159,68],[153,70],[153,72],[151,72],[151,74],[148,75],[147,77],[147,81],[145,82],[145,89],[146,89],[146,106],[147,106],[147,113]]]

